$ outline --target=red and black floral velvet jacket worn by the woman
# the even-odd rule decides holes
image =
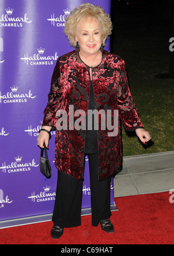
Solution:
[[[115,176],[122,169],[121,121],[124,128],[133,131],[143,128],[137,115],[135,104],[126,78],[124,60],[103,50],[102,62],[93,68],[93,89],[96,110],[118,112],[118,134],[108,136],[108,129],[97,130],[99,146],[99,180]],[[69,52],[59,59],[52,75],[49,100],[44,111],[42,125],[56,127],[59,117],[57,110],[66,110],[69,120],[69,107],[74,111],[87,113],[89,100],[89,67],[81,61],[76,51]],[[78,117],[74,117],[77,120]],[[113,124],[113,123],[112,123]],[[85,129],[56,129],[55,165],[57,169],[74,178],[84,178]],[[110,131],[109,131],[110,132]]]

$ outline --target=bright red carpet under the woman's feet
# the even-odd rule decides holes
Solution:
[[[52,222],[0,229],[0,244],[174,244],[174,203],[169,192],[115,198],[119,211],[111,222],[115,233],[91,225],[91,216],[82,216],[82,225],[64,229],[52,239]],[[173,200],[172,200],[173,202]]]

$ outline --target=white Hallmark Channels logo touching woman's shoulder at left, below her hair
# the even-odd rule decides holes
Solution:
[[[37,53],[33,55],[28,55],[28,52],[24,54],[23,58],[20,58],[24,61],[26,65],[53,65],[53,61],[56,61],[58,56],[57,52],[54,55],[45,55],[45,48],[37,48]]]

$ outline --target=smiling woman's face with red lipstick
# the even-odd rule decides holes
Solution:
[[[100,24],[94,17],[83,19],[75,37],[84,57],[96,54],[102,45]]]

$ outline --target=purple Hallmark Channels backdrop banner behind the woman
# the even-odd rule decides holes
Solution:
[[[57,184],[55,131],[48,156],[52,177],[39,170],[37,136],[56,60],[74,50],[63,33],[80,0],[0,0],[0,220],[53,212]],[[88,1],[110,13],[110,1]],[[109,40],[106,50],[109,50]],[[111,184],[111,205],[114,189]],[[90,208],[88,159],[82,208]]]

